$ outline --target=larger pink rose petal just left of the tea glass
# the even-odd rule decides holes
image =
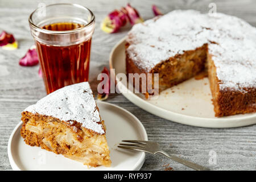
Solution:
[[[36,52],[35,45],[28,49],[26,55],[19,60],[19,65],[24,67],[32,67],[38,63],[38,53]]]

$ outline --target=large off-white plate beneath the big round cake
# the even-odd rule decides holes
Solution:
[[[214,116],[212,94],[208,78],[196,80],[191,78],[183,83],[164,90],[158,97],[146,100],[142,94],[135,94],[128,89],[128,84],[119,81],[118,73],[126,73],[125,39],[118,42],[109,57],[110,68],[115,69],[117,87],[133,104],[149,113],[158,115],[185,125],[200,127],[240,127],[256,123],[256,113],[237,114],[217,118]],[[125,82],[126,83],[126,82]]]

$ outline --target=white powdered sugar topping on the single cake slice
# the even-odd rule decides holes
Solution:
[[[36,102],[35,105],[28,106],[24,111],[49,115],[62,121],[71,121],[71,124],[72,120],[75,120],[86,129],[105,134],[88,82],[56,90]]]

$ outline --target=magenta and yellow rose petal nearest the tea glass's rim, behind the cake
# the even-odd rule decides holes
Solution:
[[[117,32],[127,23],[127,15],[123,11],[114,10],[101,23],[101,29],[107,33]]]

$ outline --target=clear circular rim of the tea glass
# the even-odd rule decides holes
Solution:
[[[86,27],[89,27],[95,20],[95,16],[94,14],[92,13],[92,11],[90,9],[88,9],[87,7],[85,6],[82,6],[82,5],[78,5],[78,4],[75,4],[75,3],[55,3],[55,4],[51,4],[51,5],[47,5],[46,7],[49,7],[49,6],[56,6],[56,5],[71,5],[71,6],[75,6],[75,7],[79,7],[81,9],[84,9],[84,10],[88,10],[89,13],[92,15],[92,18],[90,19],[90,22],[87,23],[84,27],[80,27],[80,28],[76,28],[74,30],[64,30],[64,31],[56,31],[56,30],[46,30],[44,28],[41,28],[39,26],[36,26],[36,24],[33,23],[33,20],[32,20],[32,15],[40,9],[40,7],[38,7],[37,9],[35,9],[29,16],[28,18],[28,23],[30,24],[31,27],[39,30],[40,32],[43,32],[45,34],[71,34],[71,33],[74,33],[74,32],[79,32],[81,30],[84,30]]]

